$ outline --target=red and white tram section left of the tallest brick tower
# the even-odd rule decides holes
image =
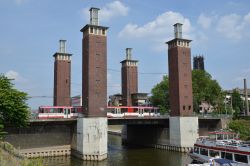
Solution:
[[[40,106],[38,119],[77,118],[82,108],[72,106]]]

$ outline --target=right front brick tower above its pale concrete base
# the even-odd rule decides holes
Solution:
[[[193,113],[191,40],[182,38],[182,24],[174,25],[175,39],[168,41],[170,115]]]

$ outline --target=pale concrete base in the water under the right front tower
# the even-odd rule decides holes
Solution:
[[[169,117],[170,145],[179,148],[194,146],[198,138],[198,117]]]

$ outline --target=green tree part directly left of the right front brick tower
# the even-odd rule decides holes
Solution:
[[[151,90],[151,103],[160,108],[161,113],[169,112],[169,81],[168,76],[163,76],[163,80],[156,84]]]

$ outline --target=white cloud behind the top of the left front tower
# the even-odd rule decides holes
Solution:
[[[89,8],[83,8],[81,10],[81,14],[84,19],[89,20]],[[112,18],[119,16],[127,16],[129,11],[129,7],[123,4],[120,1],[113,1],[111,3],[106,4],[99,11],[100,21],[109,21]]]

